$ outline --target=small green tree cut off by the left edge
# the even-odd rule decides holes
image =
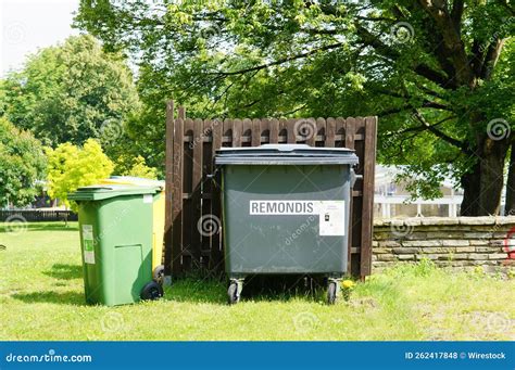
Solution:
[[[45,165],[41,143],[0,117],[0,204],[24,206],[34,201]]]

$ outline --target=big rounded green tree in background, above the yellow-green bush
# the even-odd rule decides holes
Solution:
[[[124,120],[139,106],[123,56],[103,52],[87,35],[32,55],[0,89],[7,117],[52,146],[98,138],[109,149],[123,139]]]

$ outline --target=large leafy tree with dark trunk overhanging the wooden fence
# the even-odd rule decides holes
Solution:
[[[379,160],[409,165],[415,195],[451,176],[462,214],[486,215],[513,141],[514,20],[508,0],[81,0],[76,23],[139,58],[155,113],[174,97],[204,116],[379,115]]]

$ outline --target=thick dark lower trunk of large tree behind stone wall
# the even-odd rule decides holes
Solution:
[[[477,163],[462,177],[464,189],[462,216],[498,215],[501,205],[507,139],[478,138]]]

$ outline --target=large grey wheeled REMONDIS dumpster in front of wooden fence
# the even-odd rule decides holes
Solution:
[[[222,148],[228,301],[248,275],[328,278],[328,303],[347,272],[351,188],[357,156],[349,149],[304,144]]]

